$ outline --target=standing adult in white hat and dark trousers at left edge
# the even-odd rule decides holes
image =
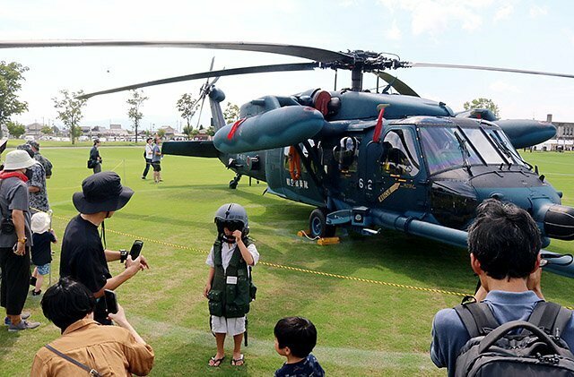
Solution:
[[[9,331],[34,329],[39,322],[26,321],[22,314],[30,283],[30,205],[27,174],[37,161],[24,150],[6,154],[0,172],[0,304],[6,309]],[[22,319],[23,318],[23,319]]]

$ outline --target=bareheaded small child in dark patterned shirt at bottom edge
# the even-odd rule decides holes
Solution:
[[[323,377],[325,371],[311,354],[317,344],[317,329],[306,318],[286,317],[274,328],[275,351],[287,362],[275,371],[275,377]]]

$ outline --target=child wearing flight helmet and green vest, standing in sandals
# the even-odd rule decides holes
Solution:
[[[254,296],[251,289],[250,266],[259,260],[257,247],[248,239],[246,210],[237,203],[222,205],[215,212],[217,239],[205,263],[209,266],[204,296],[209,299],[212,332],[217,354],[210,366],[219,366],[225,359],[225,336],[233,337],[231,365],[243,365],[241,341],[246,330],[245,314]]]

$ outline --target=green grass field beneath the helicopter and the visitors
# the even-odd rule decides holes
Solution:
[[[65,219],[76,213],[72,193],[91,173],[85,167],[88,149],[43,148],[42,152],[55,166],[48,194],[61,237]],[[102,148],[100,153],[104,169],[113,168],[135,190],[126,208],[106,221],[107,240],[115,249],[129,248],[135,238],[145,240],[143,254],[152,270],[127,281],[117,296],[135,329],[155,350],[152,375],[272,375],[283,363],[274,351],[273,328],[287,315],[306,316],[316,324],[314,354],[327,375],[446,374],[429,359],[431,321],[434,313],[457,304],[460,296],[431,289],[473,291],[475,278],[465,251],[391,231],[375,237],[344,236],[341,244],[319,246],[296,236],[307,227],[311,207],[262,196],[265,184],[254,181],[248,186],[245,178],[237,190],[230,190],[232,172],[216,160],[168,156],[162,162],[165,182],[153,184],[151,179],[140,179],[141,148]],[[525,157],[564,192],[565,204],[574,205],[574,154],[526,153]],[[247,364],[209,368],[215,342],[202,296],[204,260],[215,236],[213,213],[229,201],[248,210],[251,236],[261,253],[254,270],[259,289],[249,313],[249,346],[243,350]],[[549,249],[571,252],[571,244],[553,242]],[[58,262],[59,251],[52,265],[53,280]],[[110,268],[117,273],[122,267],[114,262]],[[571,306],[572,287],[574,281],[544,273],[548,299]],[[15,334],[0,330],[1,376],[28,375],[35,352],[59,335],[41,314],[38,297],[29,297],[26,310],[43,324],[38,330]],[[230,356],[230,345],[227,349]]]

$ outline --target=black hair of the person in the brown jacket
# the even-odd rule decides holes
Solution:
[[[72,278],[60,278],[48,288],[40,304],[44,316],[64,332],[72,323],[93,312],[96,299],[82,283]]]

